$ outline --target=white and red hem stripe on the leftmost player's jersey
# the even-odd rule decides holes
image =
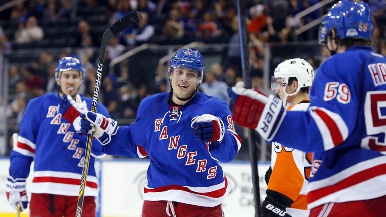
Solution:
[[[33,172],[31,193],[47,193],[65,196],[78,196],[81,174],[71,172],[35,171]],[[95,176],[87,175],[85,196],[98,196]]]

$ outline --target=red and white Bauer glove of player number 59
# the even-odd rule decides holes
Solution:
[[[286,114],[279,98],[240,86],[228,88],[228,95],[234,101],[233,121],[256,130],[265,140],[275,136]]]

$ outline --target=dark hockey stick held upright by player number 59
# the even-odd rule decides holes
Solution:
[[[243,81],[245,88],[251,88],[251,73],[249,68],[249,50],[248,50],[248,37],[247,37],[247,23],[245,17],[245,1],[237,1],[237,14],[239,17],[239,41],[241,50],[241,65],[243,70]],[[259,187],[259,173],[257,169],[257,147],[255,144],[255,132],[249,130],[248,132],[248,148],[249,159],[251,161],[252,169],[252,184],[253,184],[253,198],[255,201],[255,217],[260,217],[260,187]]]

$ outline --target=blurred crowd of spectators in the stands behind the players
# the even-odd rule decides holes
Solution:
[[[0,0],[0,5],[7,2]],[[239,43],[236,1],[78,0],[75,1],[76,5],[73,2],[28,0],[0,12],[0,51],[10,61],[10,104],[7,116],[17,120],[10,132],[18,131],[17,126],[29,99],[45,92],[58,91],[54,78],[55,66],[64,56],[76,56],[85,65],[85,80],[80,92],[90,96],[93,92],[95,61],[102,33],[132,10],[141,12],[143,20],[110,41],[106,48],[105,65],[123,52],[143,43],[227,43],[229,46],[220,52],[220,62],[206,63],[205,79],[200,91],[230,102],[226,89],[242,77],[240,48],[235,46]],[[366,2],[370,4],[375,16],[376,49],[386,55],[386,42],[383,41],[386,30],[386,0]],[[317,3],[317,0],[247,1],[253,87],[261,88],[264,82],[268,82],[262,78],[265,43],[290,45],[292,41],[317,40],[317,26],[295,35],[296,29],[322,16],[326,12],[324,8],[334,2],[301,19],[296,18],[297,13]],[[29,53],[26,50],[31,48],[39,52]],[[49,52],[45,48],[57,50]],[[272,49],[271,69],[284,58],[293,57],[291,55],[294,54],[294,47],[284,48],[285,50],[280,47],[276,51]],[[323,58],[328,56],[324,49],[318,47],[317,51],[320,50],[322,54],[308,51],[301,57],[317,68]],[[154,65],[151,68],[154,70],[149,71],[146,70],[146,60],[134,68],[133,64],[126,63],[117,65],[113,72],[104,67],[103,72],[100,99],[115,119],[135,119],[138,105],[143,98],[152,93],[169,91],[170,88],[167,65],[159,68]]]

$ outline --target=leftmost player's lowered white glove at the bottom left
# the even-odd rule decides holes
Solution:
[[[7,177],[6,181],[6,195],[8,203],[15,209],[18,210],[17,203],[20,204],[21,210],[27,208],[28,198],[26,193],[26,179]]]

